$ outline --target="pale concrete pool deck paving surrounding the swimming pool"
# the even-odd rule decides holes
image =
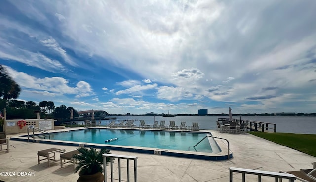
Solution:
[[[60,131],[60,130],[58,130]],[[204,130],[200,130],[204,131]],[[209,130],[207,130],[209,131]],[[311,169],[316,157],[281,146],[251,134],[230,134],[211,131],[214,136],[228,139],[233,158],[224,161],[207,161],[189,158],[169,157],[154,154],[140,154],[112,150],[112,154],[137,156],[138,182],[229,182],[229,167],[256,169],[263,171],[295,171]],[[11,137],[13,135],[8,135]],[[4,146],[6,147],[6,146]],[[73,172],[71,163],[60,168],[60,161],[47,160],[38,164],[37,151],[47,148],[75,150],[75,146],[58,146],[42,143],[10,141],[10,152],[0,151],[0,172],[16,172],[16,176],[0,176],[5,182],[75,182],[78,173]],[[56,154],[59,159],[59,153]],[[117,167],[118,161],[114,161]],[[123,182],[126,182],[122,170]],[[108,182],[110,181],[107,168]],[[18,172],[34,172],[34,176],[17,176]],[[115,175],[118,170],[115,171]],[[115,176],[118,181],[118,175]],[[132,178],[131,178],[132,179]],[[241,174],[234,174],[234,181],[241,181]],[[246,175],[246,181],[257,181],[254,175]],[[262,177],[262,182],[274,181]],[[286,181],[286,180],[284,180]],[[296,180],[299,182],[298,180]]]

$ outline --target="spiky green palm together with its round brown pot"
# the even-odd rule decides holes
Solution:
[[[79,169],[79,178],[77,182],[103,182],[103,157],[102,154],[110,153],[109,149],[102,148],[100,151],[96,151],[94,148],[77,148],[79,154],[74,156],[77,160],[78,166],[75,169],[77,172]],[[107,163],[110,162],[110,158],[107,158]]]

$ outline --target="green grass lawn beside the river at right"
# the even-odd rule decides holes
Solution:
[[[248,132],[248,133],[316,157],[316,135],[315,134],[263,133],[263,132]]]

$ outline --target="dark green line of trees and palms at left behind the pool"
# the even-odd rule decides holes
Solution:
[[[6,108],[7,119],[34,119],[36,111],[40,111],[41,118],[70,119],[70,110],[73,109],[74,117],[78,117],[78,112],[73,107],[60,105],[55,107],[53,101],[41,101],[36,104],[34,101],[17,100],[21,92],[21,87],[7,73],[7,70],[0,64],[0,110]]]

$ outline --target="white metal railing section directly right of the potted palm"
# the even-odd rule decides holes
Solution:
[[[111,170],[111,182],[114,182],[114,175],[113,175],[113,160],[118,159],[118,180],[121,182],[121,159],[126,159],[127,163],[127,182],[129,181],[129,160],[134,161],[134,182],[137,182],[137,157],[135,156],[127,156],[127,155],[114,155],[114,154],[103,154],[103,173],[104,173],[104,182],[107,182],[107,158],[110,158],[110,170]]]

